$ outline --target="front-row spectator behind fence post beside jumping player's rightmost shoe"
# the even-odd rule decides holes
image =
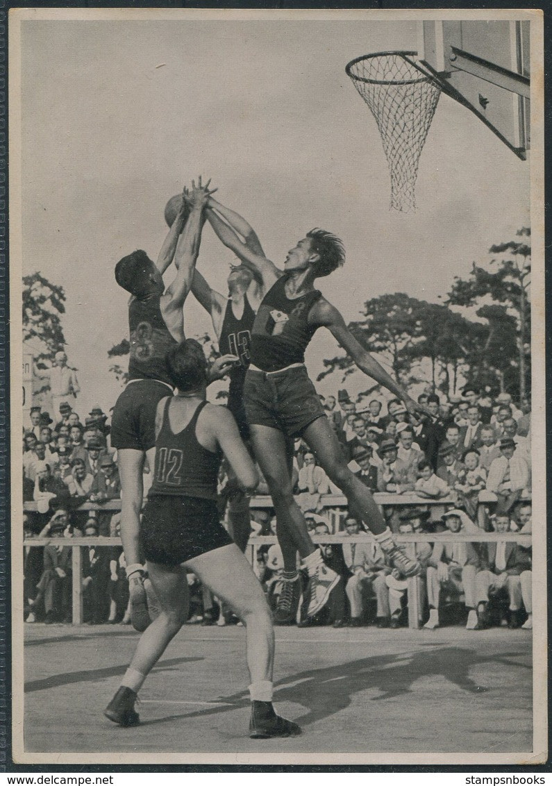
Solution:
[[[399,516],[399,534],[416,534],[424,532],[423,522],[428,514],[418,508],[404,510]],[[403,544],[399,549],[405,549]],[[427,598],[426,593],[426,571],[429,557],[432,553],[431,544],[421,542],[415,544],[416,559],[421,565],[421,573],[418,576],[418,623],[421,623]],[[406,549],[405,549],[406,550]],[[408,604],[408,582],[396,569],[385,577],[385,583],[389,590],[389,611],[391,619],[389,627],[396,629],[401,626],[403,617],[403,605]]]

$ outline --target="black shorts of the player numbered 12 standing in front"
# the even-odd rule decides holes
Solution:
[[[149,562],[179,565],[233,542],[220,523],[215,501],[159,494],[145,504],[140,543]]]

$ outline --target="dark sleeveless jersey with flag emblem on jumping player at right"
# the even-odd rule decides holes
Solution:
[[[303,363],[305,349],[316,331],[308,314],[322,292],[313,289],[299,298],[285,294],[283,275],[264,296],[253,323],[251,362],[261,371],[278,371],[292,363]]]

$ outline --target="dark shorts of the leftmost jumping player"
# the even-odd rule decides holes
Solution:
[[[155,446],[157,404],[171,387],[156,380],[138,380],[127,384],[117,399],[111,420],[111,444],[117,450],[149,450]]]

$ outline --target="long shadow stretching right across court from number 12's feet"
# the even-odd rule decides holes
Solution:
[[[412,655],[377,655],[290,675],[289,678],[276,683],[278,692],[274,700],[278,703],[289,701],[303,704],[308,708],[307,711],[294,720],[301,725],[308,725],[344,711],[351,706],[356,693],[377,690],[380,693],[378,696],[372,696],[372,701],[390,700],[412,692],[412,685],[421,678],[441,676],[463,691],[484,693],[490,689],[478,685],[470,677],[470,669],[492,664],[493,667],[531,670],[530,666],[512,660],[524,654],[526,653],[506,652],[500,656],[479,656],[467,648],[432,646],[425,652],[415,652]],[[240,707],[248,707],[249,696],[248,692],[241,691],[230,696],[221,696],[219,701],[224,704],[205,710],[156,718],[145,721],[142,725],[156,725],[179,718],[199,718],[235,711]]]

